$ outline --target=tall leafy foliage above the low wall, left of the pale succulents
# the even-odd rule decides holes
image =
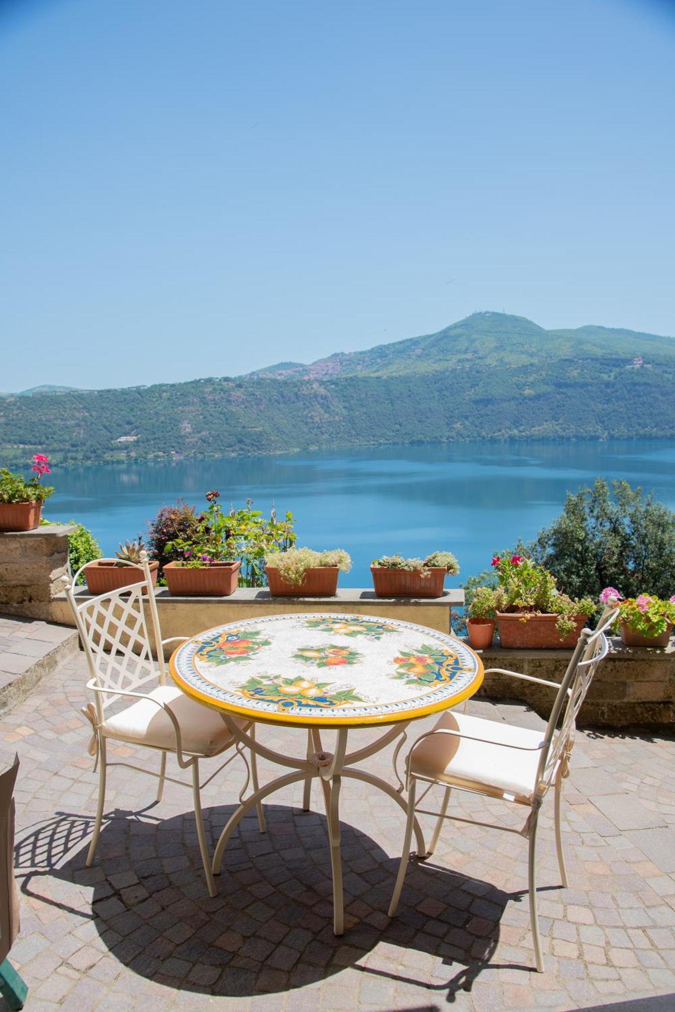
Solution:
[[[239,587],[265,586],[266,558],[295,543],[293,514],[286,513],[283,520],[277,520],[273,507],[270,519],[266,520],[260,510],[253,508],[251,499],[247,500],[246,508],[235,510],[230,507],[229,513],[223,513],[219,498],[219,492],[207,492],[208,506],[198,516],[194,513],[186,515],[182,511],[186,530],[164,542],[165,555],[173,554],[181,566],[190,567],[238,559]],[[159,524],[162,533],[169,523],[162,519]]]

